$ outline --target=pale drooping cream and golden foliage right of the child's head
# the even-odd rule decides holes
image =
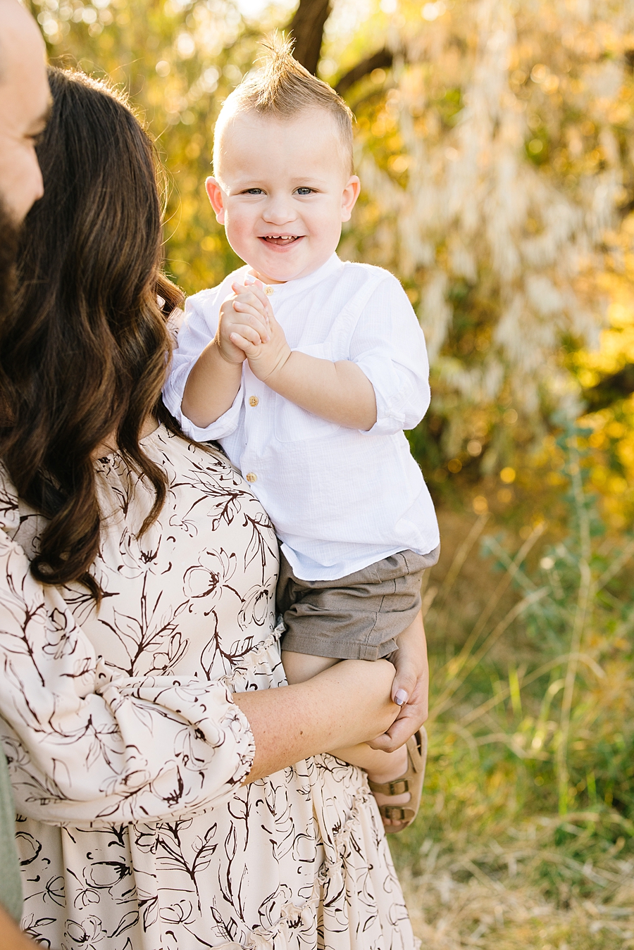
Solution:
[[[394,270],[425,327],[441,493],[451,461],[526,463],[582,408],[567,356],[596,346],[631,257],[631,9],[404,0],[392,29],[396,68],[351,90],[366,195],[345,253]]]

